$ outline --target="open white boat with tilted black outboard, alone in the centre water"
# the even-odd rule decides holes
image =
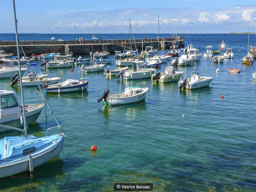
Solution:
[[[140,102],[145,100],[148,87],[141,87],[145,83],[137,84],[135,86],[126,87],[124,92],[111,94],[108,89],[103,93],[103,96],[98,99],[98,103],[102,100],[103,104],[107,105],[123,105]],[[140,85],[140,86],[139,86]]]

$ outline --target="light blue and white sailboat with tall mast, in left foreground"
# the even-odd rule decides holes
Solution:
[[[18,39],[18,33],[17,33],[16,11],[15,11],[14,0],[12,0],[12,2],[13,2],[13,12],[14,12],[14,20],[15,20],[17,53],[18,53],[18,60],[19,60],[19,73],[21,76],[20,50],[19,50],[19,39]],[[25,52],[21,45],[20,47],[25,55]],[[29,67],[31,69],[30,64],[29,64]],[[33,73],[33,76],[35,76],[32,69],[31,69],[31,72]],[[26,113],[24,113],[25,105],[24,105],[24,96],[23,96],[23,87],[22,87],[22,78],[21,78],[20,89],[21,89],[21,100],[22,100],[23,112],[20,114],[20,122],[24,125],[24,128],[20,129],[20,128],[15,128],[15,127],[2,125],[2,124],[0,124],[0,126],[4,128],[16,130],[16,131],[21,131],[24,133],[24,135],[4,137],[3,139],[0,140],[0,178],[12,176],[28,170],[29,172],[33,172],[34,167],[44,164],[50,159],[60,155],[60,151],[62,149],[64,139],[66,138],[66,134],[63,132],[62,126],[57,121],[55,115],[53,114],[52,109],[47,103],[39,84],[38,84],[38,87],[44,97],[44,100],[49,110],[51,111],[54,119],[56,120],[58,126],[47,129],[45,133],[45,137],[42,137],[42,138],[37,138],[34,135],[27,134],[28,125],[26,120]],[[6,101],[6,104],[8,104],[8,101]],[[60,132],[54,135],[47,136],[47,132],[50,129],[57,129],[57,131],[60,131]]]

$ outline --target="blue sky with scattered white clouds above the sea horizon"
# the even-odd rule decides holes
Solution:
[[[256,32],[256,0],[16,0],[22,33]],[[0,0],[0,33],[14,33],[11,0]]]

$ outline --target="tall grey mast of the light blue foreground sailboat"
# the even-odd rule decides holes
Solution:
[[[20,49],[19,49],[19,42],[18,42],[17,19],[16,19],[16,11],[15,11],[15,2],[14,2],[14,0],[12,0],[12,4],[13,4],[14,22],[15,22],[17,54],[18,54],[18,60],[19,60],[20,90],[21,90],[21,102],[22,102],[24,132],[25,132],[25,136],[27,136],[27,121],[26,121],[26,114],[25,114],[25,107],[24,107],[25,104],[24,104],[24,95],[23,95],[23,87],[22,87],[22,74],[21,74],[21,69],[20,69]]]

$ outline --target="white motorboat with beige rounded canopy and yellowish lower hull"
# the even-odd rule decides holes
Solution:
[[[182,71],[175,72],[172,66],[167,66],[164,69],[164,72],[153,74],[151,76],[151,81],[168,83],[168,82],[178,81],[182,75],[184,75],[184,72]]]

